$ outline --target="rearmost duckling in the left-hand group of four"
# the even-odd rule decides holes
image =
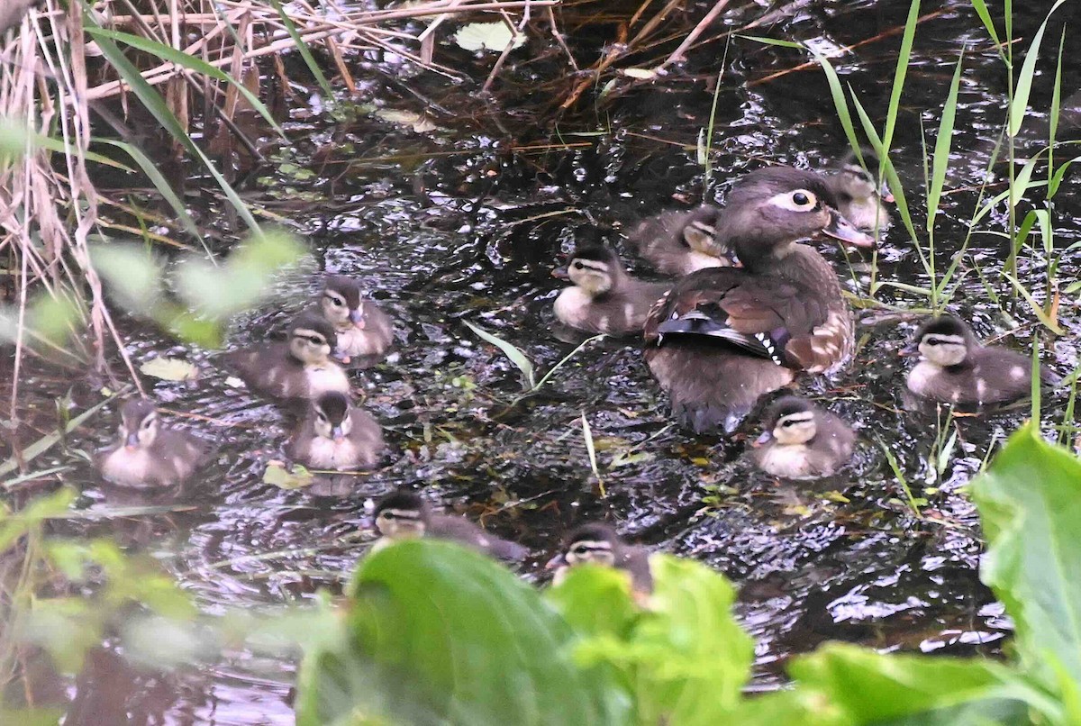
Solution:
[[[348,363],[352,355],[382,355],[393,339],[390,317],[361,296],[360,285],[352,278],[328,275],[319,308],[334,326],[335,357],[343,363]]]

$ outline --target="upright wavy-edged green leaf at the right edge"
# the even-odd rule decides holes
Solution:
[[[1081,461],[1029,424],[972,495],[988,540],[980,577],[1016,624],[1023,662],[1081,681]]]

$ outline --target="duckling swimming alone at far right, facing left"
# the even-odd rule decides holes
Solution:
[[[903,351],[920,355],[909,372],[908,390],[943,403],[1005,404],[1032,390],[1032,360],[1006,348],[988,347],[961,319],[939,315],[924,322]],[[1040,378],[1054,385],[1055,375],[1040,366]]]

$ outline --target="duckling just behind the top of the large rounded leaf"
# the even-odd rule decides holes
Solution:
[[[433,537],[471,547],[499,560],[519,561],[529,553],[521,544],[494,537],[469,520],[436,514],[421,495],[405,489],[387,495],[375,506],[375,528],[381,538],[372,546],[373,552],[403,539]]]

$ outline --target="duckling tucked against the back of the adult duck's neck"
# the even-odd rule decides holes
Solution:
[[[642,220],[627,243],[663,274],[682,277],[707,267],[729,267],[734,264],[731,254],[715,241],[721,214],[708,204],[690,212],[663,212]]]

